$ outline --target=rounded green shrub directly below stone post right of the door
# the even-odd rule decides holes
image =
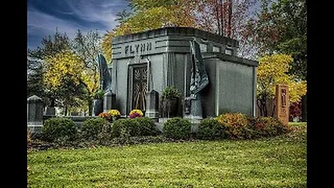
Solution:
[[[154,136],[157,135],[157,128],[154,120],[148,117],[134,118],[133,121],[138,123],[138,136]]]

